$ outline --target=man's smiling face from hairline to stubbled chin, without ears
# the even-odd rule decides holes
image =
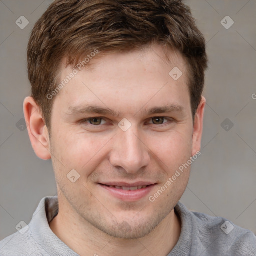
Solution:
[[[152,231],[183,194],[190,167],[166,182],[199,150],[185,62],[171,51],[170,60],[158,45],[92,59],[93,69],[79,71],[54,99],[50,151],[59,200],[112,236]],[[183,73],[177,80],[169,75],[174,67]],[[59,80],[72,70],[63,68]]]

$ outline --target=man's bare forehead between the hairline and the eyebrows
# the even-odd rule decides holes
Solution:
[[[68,82],[56,100],[65,101],[65,110],[79,108],[79,105],[126,110],[132,106],[159,107],[159,100],[164,105],[186,108],[184,104],[189,103],[186,61],[172,50],[168,51],[168,58],[162,46],[154,45],[131,52],[91,57],[87,68],[62,65],[58,82]],[[76,74],[69,79],[74,70]]]

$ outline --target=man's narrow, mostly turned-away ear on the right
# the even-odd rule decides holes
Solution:
[[[201,149],[202,138],[202,125],[203,125],[203,113],[205,108],[206,99],[202,96],[201,101],[197,107],[194,115],[193,124],[193,138],[192,138],[192,155],[196,154]]]

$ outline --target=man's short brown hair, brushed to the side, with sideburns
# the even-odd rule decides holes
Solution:
[[[55,0],[36,22],[27,48],[32,97],[50,129],[61,60],[75,66],[88,53],[123,52],[159,43],[187,60],[192,116],[207,68],[205,41],[182,0]]]

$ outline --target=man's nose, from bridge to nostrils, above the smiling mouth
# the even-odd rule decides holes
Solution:
[[[119,129],[113,139],[109,157],[112,166],[134,174],[149,164],[150,150],[136,128],[131,126],[127,131]]]

